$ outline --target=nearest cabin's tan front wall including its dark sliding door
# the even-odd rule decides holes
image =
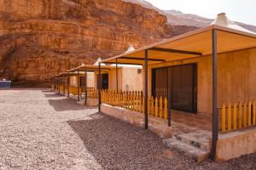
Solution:
[[[256,99],[256,48],[218,54],[217,65],[218,108]],[[148,95],[166,96],[168,77],[172,108],[212,116],[212,55],[148,65]]]

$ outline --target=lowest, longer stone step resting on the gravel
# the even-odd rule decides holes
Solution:
[[[206,161],[210,155],[210,151],[201,150],[176,138],[164,139],[163,142],[170,148],[183,151],[186,156],[189,156],[197,162]]]

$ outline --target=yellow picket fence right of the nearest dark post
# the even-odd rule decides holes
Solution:
[[[221,129],[222,132],[234,131],[237,128],[247,128],[256,125],[255,100],[244,103],[225,103],[221,108]]]

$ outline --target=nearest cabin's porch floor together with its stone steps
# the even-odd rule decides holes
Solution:
[[[212,145],[212,118],[207,115],[172,111],[172,138],[164,143],[181,150],[197,162],[206,161]]]

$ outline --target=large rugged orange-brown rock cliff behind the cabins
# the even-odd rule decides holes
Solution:
[[[98,57],[120,54],[195,27],[121,0],[0,0],[0,78],[45,82]]]

